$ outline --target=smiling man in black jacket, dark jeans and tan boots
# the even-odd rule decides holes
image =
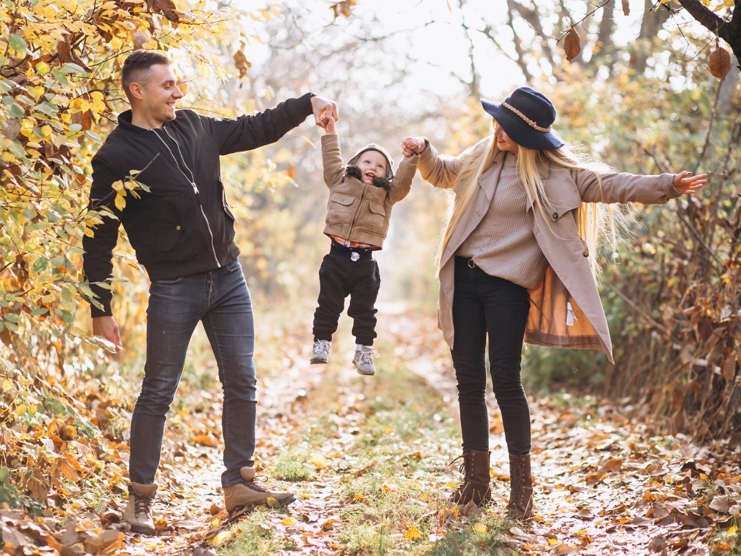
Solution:
[[[129,500],[124,519],[133,532],[153,534],[152,506],[157,485],[165,415],[185,365],[190,337],[203,322],[219,366],[224,390],[222,486],[230,514],[273,498],[255,479],[256,377],[254,322],[250,294],[233,242],[234,217],[226,202],[219,156],[268,145],[313,113],[336,118],[337,105],[307,93],[253,116],[219,119],[175,109],[182,97],[170,60],[152,50],[136,50],[122,69],[131,110],[93,157],[90,209],[105,217],[85,236],[84,272],[102,307],[91,305],[93,334],[113,342],[121,337],[111,313],[112,294],[96,282],[110,280],[119,224],[136,258],[147,269],[147,361],[142,391],[131,417]],[[136,179],[138,196],[116,208],[116,182]],[[115,187],[114,187],[115,185]],[[119,203],[120,204],[120,203]],[[273,502],[273,500],[270,500]]]

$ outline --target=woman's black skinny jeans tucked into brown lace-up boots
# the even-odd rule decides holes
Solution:
[[[485,402],[486,340],[489,370],[510,454],[531,448],[530,408],[520,382],[520,360],[530,298],[527,289],[455,259],[453,368],[458,380],[464,450],[489,449]]]

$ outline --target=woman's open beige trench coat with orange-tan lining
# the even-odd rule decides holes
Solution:
[[[500,152],[479,177],[479,188],[456,226],[440,259],[438,325],[453,348],[453,256],[462,242],[479,225],[499,182]],[[459,158],[442,157],[432,145],[419,159],[422,177],[438,188],[453,188]],[[679,196],[672,185],[674,174],[638,176],[631,173],[602,174],[602,188],[594,173],[556,168],[545,176],[545,194],[554,206],[546,222],[532,204],[535,237],[548,260],[545,279],[530,291],[530,312],[525,342],[561,348],[592,348],[604,351],[611,363],[612,344],[605,311],[589,268],[589,252],[579,238],[576,211],[585,202],[641,202],[663,204]],[[453,192],[457,194],[456,188]]]

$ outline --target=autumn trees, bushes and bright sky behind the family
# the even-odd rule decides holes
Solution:
[[[80,245],[97,221],[85,211],[90,157],[127,108],[117,76],[135,47],[167,50],[179,107],[213,116],[308,90],[336,99],[345,157],[373,141],[398,159],[411,134],[459,153],[488,133],[479,98],[531,85],[554,99],[567,141],[620,171],[707,172],[700,195],[640,207],[597,255],[616,363],[528,347],[523,375],[599,394],[657,431],[741,445],[738,1],[2,0],[0,503],[64,506],[70,483],[102,469],[80,446],[126,437],[147,277],[122,236],[113,312],[126,350],[110,354],[90,338]],[[307,340],[327,248],[320,133],[308,122],[222,161],[256,307],[296,308]],[[137,189],[122,183],[117,202]],[[447,205],[417,178],[394,209],[382,302],[435,311]]]

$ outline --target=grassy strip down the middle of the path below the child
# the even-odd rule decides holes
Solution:
[[[384,347],[382,354],[392,353]],[[370,380],[345,363],[322,369],[323,380],[302,406],[297,441],[273,464],[273,477],[300,482],[308,503],[313,489],[330,486],[327,515],[335,523],[328,535],[338,554],[501,554],[509,523],[499,509],[464,517],[448,508],[451,483],[460,480],[447,469],[460,450],[448,403],[392,356],[382,355]],[[328,465],[316,466],[313,454],[325,454]],[[219,554],[290,551],[290,539],[286,545],[268,537],[271,514],[274,523],[275,512],[250,514]]]

